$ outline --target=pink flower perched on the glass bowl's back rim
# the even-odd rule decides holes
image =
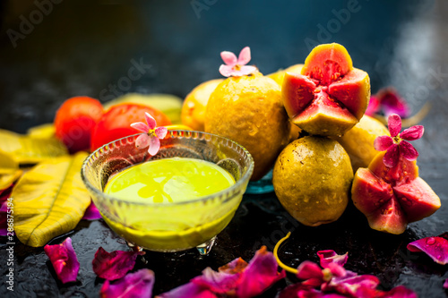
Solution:
[[[143,132],[137,140],[135,140],[135,146],[137,148],[146,148],[149,147],[148,153],[151,156],[156,155],[160,149],[160,140],[165,138],[167,135],[168,129],[164,126],[159,126],[156,128],[156,119],[154,119],[149,113],[145,112],[144,116],[146,118],[146,123],[137,122],[132,123],[131,127],[134,129]],[[160,140],[159,140],[160,139]]]

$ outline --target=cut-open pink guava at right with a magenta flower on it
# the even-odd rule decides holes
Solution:
[[[397,166],[383,164],[380,152],[368,168],[360,167],[351,188],[351,200],[375,230],[401,234],[408,223],[429,217],[440,208],[440,199],[418,177],[415,161],[400,158]]]

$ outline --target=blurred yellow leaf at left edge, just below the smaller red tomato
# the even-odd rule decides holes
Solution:
[[[67,155],[64,144],[56,138],[37,139],[0,129],[0,150],[20,164],[37,164]]]

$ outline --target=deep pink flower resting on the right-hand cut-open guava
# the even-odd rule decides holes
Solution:
[[[388,167],[396,166],[400,156],[409,161],[416,160],[418,151],[406,140],[420,139],[424,132],[423,126],[415,125],[400,133],[401,117],[397,114],[389,115],[387,123],[391,136],[377,137],[374,142],[375,149],[378,151],[387,150],[383,158],[384,165]]]

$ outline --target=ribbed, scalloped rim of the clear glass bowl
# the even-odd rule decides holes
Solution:
[[[211,136],[211,138],[217,138],[217,139],[221,139],[221,140],[227,140],[231,143],[233,143],[235,146],[237,146],[238,148],[242,149],[245,153],[246,153],[246,158],[249,159],[249,167],[247,168],[246,174],[243,175],[235,184],[233,184],[232,186],[226,188],[225,190],[222,190],[220,192],[215,192],[213,194],[209,194],[207,196],[202,196],[199,197],[197,199],[194,200],[184,200],[184,201],[179,201],[179,202],[173,202],[170,204],[159,204],[159,203],[151,203],[149,201],[142,201],[142,202],[135,202],[135,201],[129,201],[129,200],[124,200],[124,199],[120,199],[120,198],[116,198],[114,196],[111,196],[105,192],[101,192],[99,191],[99,189],[97,189],[96,187],[94,187],[89,180],[86,178],[86,176],[84,175],[85,171],[86,171],[86,167],[88,166],[88,163],[90,161],[91,158],[96,158],[95,154],[97,152],[99,152],[99,150],[101,149],[105,149],[106,146],[115,143],[116,141],[120,141],[120,140],[127,140],[129,138],[134,138],[134,140],[141,135],[142,133],[136,133],[133,135],[129,135],[127,137],[121,138],[121,139],[117,139],[117,140],[112,140],[110,142],[108,142],[107,144],[104,144],[103,146],[101,146],[99,149],[96,149],[95,151],[91,152],[90,155],[85,158],[85,160],[82,163],[82,168],[81,168],[81,177],[82,177],[82,182],[87,186],[87,188],[90,190],[90,192],[94,192],[96,196],[98,197],[102,197],[103,199],[106,199],[108,201],[117,201],[120,203],[125,203],[125,204],[130,204],[130,205],[139,205],[139,206],[153,206],[153,207],[158,207],[158,208],[163,208],[163,207],[172,207],[172,206],[176,206],[176,205],[187,205],[187,204],[192,204],[192,203],[197,203],[197,202],[205,202],[207,200],[213,200],[213,199],[217,199],[220,198],[221,200],[227,201],[228,199],[232,198],[235,196],[235,194],[237,192],[240,192],[240,188],[244,183],[248,183],[250,180],[250,177],[252,176],[253,172],[254,172],[254,158],[252,157],[252,155],[249,153],[249,151],[244,148],[242,145],[240,145],[239,143],[237,143],[235,140],[230,140],[226,137],[222,137],[218,134],[214,134],[214,133],[209,133],[209,132],[199,132],[199,131],[187,131],[187,130],[170,130],[168,131],[168,135],[170,135],[171,137],[173,137],[173,134],[177,132],[177,137],[179,136],[179,133],[183,133],[184,134],[184,138],[185,138],[185,133],[198,133],[198,135],[209,135]],[[245,159],[246,159],[245,158]]]

